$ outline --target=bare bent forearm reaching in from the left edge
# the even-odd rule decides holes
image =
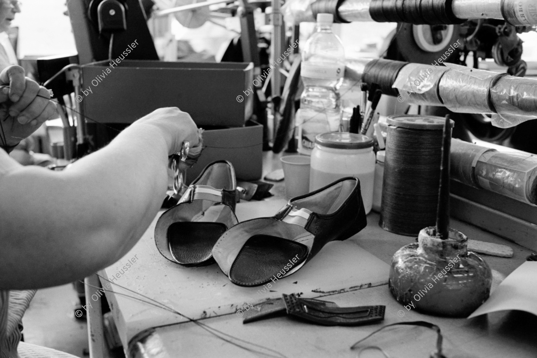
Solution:
[[[11,167],[1,176],[0,165],[0,288],[70,282],[122,257],[162,203],[168,155],[193,132],[182,127],[169,135],[135,123],[63,172]]]

